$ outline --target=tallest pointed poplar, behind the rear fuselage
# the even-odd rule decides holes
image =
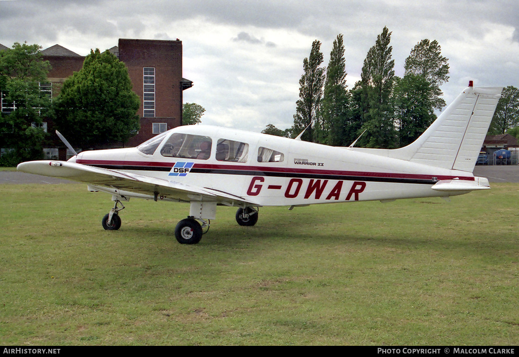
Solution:
[[[392,148],[396,133],[393,125],[391,93],[394,82],[394,60],[391,59],[391,32],[384,27],[375,45],[367,52],[362,67],[362,92],[358,105],[362,108],[363,130],[360,140],[367,147]]]

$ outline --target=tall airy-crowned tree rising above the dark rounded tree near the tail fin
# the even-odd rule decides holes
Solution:
[[[448,59],[441,55],[441,50],[438,41],[422,39],[405,60],[405,75],[419,75],[430,83],[431,100],[435,109],[445,106],[445,101],[440,98],[443,95],[440,86],[449,79]]]

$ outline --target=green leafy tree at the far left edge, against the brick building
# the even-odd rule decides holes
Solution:
[[[49,114],[51,98],[40,90],[50,69],[41,49],[17,42],[0,51],[0,95],[4,107],[10,107],[0,113],[0,147],[7,149],[0,159],[2,166],[43,157],[42,118]]]

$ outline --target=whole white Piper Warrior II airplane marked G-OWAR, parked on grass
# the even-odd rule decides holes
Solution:
[[[18,170],[111,194],[114,208],[102,219],[108,230],[119,229],[121,202],[130,198],[188,202],[189,216],[176,225],[175,237],[196,244],[217,205],[238,207],[238,224],[253,226],[263,206],[292,210],[315,203],[448,198],[490,188],[472,171],[501,90],[473,88],[471,81],[414,143],[399,149],[331,147],[197,125],[168,130],[137,147],[23,162]]]

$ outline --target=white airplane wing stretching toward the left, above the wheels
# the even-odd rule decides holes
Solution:
[[[141,195],[160,195],[181,201],[216,201],[227,205],[258,205],[240,196],[235,196],[210,188],[186,185],[180,182],[168,181],[157,177],[96,168],[69,161],[28,161],[17,167],[18,171],[37,175],[59,177],[72,181],[84,182],[90,185],[114,188]],[[124,195],[121,195],[124,196]]]

